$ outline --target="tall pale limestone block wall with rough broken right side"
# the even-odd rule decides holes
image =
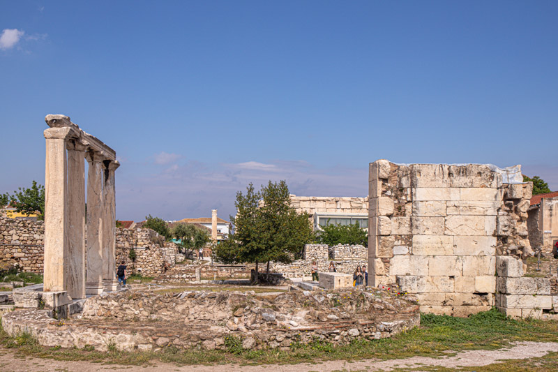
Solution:
[[[415,293],[421,311],[495,305],[496,256],[526,258],[531,184],[488,165],[370,163],[369,285]]]

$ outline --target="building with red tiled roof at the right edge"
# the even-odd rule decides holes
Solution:
[[[549,253],[558,241],[558,191],[534,195],[527,214],[531,247]]]

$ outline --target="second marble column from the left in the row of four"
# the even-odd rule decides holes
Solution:
[[[68,150],[68,219],[66,220],[66,290],[73,299],[85,298],[85,149],[70,140]]]

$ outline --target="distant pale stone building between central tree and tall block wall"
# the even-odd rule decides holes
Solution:
[[[327,225],[352,225],[359,223],[368,230],[368,196],[296,196],[290,195],[291,207],[298,213],[308,213],[314,230]]]

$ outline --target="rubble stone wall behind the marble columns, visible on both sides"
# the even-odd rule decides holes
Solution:
[[[19,265],[23,271],[43,274],[45,250],[45,225],[43,221],[26,221],[0,218],[0,262]],[[166,260],[174,265],[175,244],[162,247],[162,239],[151,229],[116,229],[116,265],[124,258],[130,270],[140,269],[145,276],[160,274]],[[137,248],[137,259],[128,259],[130,248]],[[131,271],[130,271],[131,272]]]

